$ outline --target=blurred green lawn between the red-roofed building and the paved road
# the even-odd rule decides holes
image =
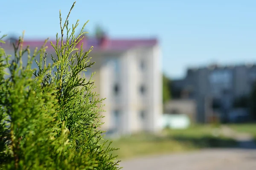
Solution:
[[[213,136],[215,127],[197,125],[186,130],[163,130],[158,135],[135,134],[129,137],[112,140],[112,147],[120,148],[114,151],[120,159],[137,156],[178,153],[208,147],[235,146],[233,139],[223,136]]]

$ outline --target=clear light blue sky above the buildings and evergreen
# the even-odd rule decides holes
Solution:
[[[0,34],[55,37],[59,16],[74,0],[2,0]],[[70,23],[100,24],[111,37],[157,37],[163,71],[172,78],[189,66],[256,62],[256,0],[77,0]],[[81,26],[80,25],[80,26]]]

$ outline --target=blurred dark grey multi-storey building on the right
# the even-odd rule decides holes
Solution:
[[[195,99],[197,122],[209,122],[218,115],[228,121],[236,99],[250,95],[256,80],[256,65],[209,65],[189,68],[184,79],[174,80],[176,98]]]

